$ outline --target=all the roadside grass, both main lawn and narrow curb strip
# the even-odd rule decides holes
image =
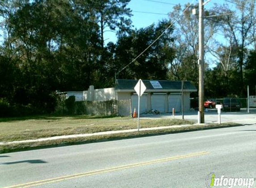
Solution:
[[[141,119],[141,128],[193,124],[181,119]],[[184,131],[197,131],[210,128],[239,126],[235,123],[194,125],[173,127],[161,130],[135,131],[112,135],[97,135],[80,138],[47,140],[42,142],[15,143],[0,146],[0,153],[25,151],[48,147],[59,147],[81,143],[102,142],[116,139],[129,139],[142,136],[162,135]],[[101,131],[116,131],[137,128],[137,119],[106,116],[29,116],[0,119],[0,142],[46,138],[57,135],[85,134]]]

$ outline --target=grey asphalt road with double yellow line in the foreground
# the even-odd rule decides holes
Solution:
[[[255,124],[0,155],[0,188],[205,188],[211,172],[256,178]]]

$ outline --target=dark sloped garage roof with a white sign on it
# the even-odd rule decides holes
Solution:
[[[137,82],[138,80],[117,80],[115,90],[117,92],[134,91]],[[147,88],[146,92],[180,92],[182,86],[182,81],[143,80],[143,83]],[[156,83],[155,88],[154,83]],[[190,92],[197,91],[197,88],[189,81],[184,81],[183,89]]]

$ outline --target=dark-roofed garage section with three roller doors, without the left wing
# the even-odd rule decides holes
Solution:
[[[116,99],[131,99],[132,109],[138,108],[138,95],[134,90],[137,82],[138,80],[117,80],[115,86]],[[159,112],[172,112],[172,108],[176,112],[181,110],[181,81],[143,80],[143,83],[147,89],[140,98],[141,113],[147,113],[152,109],[159,110]],[[196,87],[191,82],[184,82],[184,111],[190,110],[190,93],[196,91]]]

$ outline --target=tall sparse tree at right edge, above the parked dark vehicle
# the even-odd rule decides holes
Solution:
[[[240,95],[245,94],[243,69],[248,55],[248,48],[253,44],[253,28],[255,20],[255,0],[234,0],[235,7],[230,4],[216,5],[218,12],[230,12],[231,15],[222,16],[216,20],[221,24],[221,32],[232,43],[231,56],[236,57],[238,68]],[[223,40],[222,40],[223,42]],[[224,41],[225,42],[225,41]]]

